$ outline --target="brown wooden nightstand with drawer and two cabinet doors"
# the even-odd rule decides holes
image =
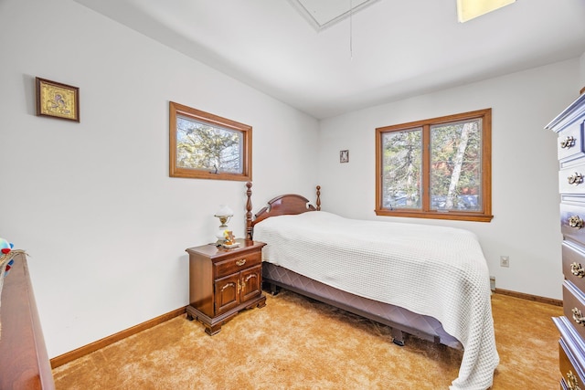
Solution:
[[[238,239],[239,248],[207,244],[187,248],[189,254],[189,306],[186,318],[197,319],[214,335],[239,311],[266,306],[262,294],[260,241]]]

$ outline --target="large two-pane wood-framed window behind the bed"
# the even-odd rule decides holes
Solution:
[[[492,110],[376,129],[376,214],[492,220]]]

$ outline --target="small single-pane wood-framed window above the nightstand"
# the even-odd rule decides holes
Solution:
[[[252,128],[169,104],[171,177],[250,181]]]

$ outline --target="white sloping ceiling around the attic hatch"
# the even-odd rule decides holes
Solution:
[[[583,0],[518,0],[466,23],[456,0],[377,0],[324,28],[293,0],[75,1],[317,119],[585,53]],[[303,3],[326,22],[364,1]]]

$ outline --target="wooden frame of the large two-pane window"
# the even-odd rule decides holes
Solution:
[[[482,119],[482,205],[481,211],[449,210],[448,212],[431,210],[431,125]],[[382,174],[383,153],[382,136],[386,132],[407,131],[422,128],[422,206],[420,210],[389,209],[383,206]],[[490,222],[492,215],[492,109],[463,112],[424,121],[413,121],[376,129],[376,215],[406,216],[414,218],[451,219],[474,222]]]

